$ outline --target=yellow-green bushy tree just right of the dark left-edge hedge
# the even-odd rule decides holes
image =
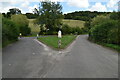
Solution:
[[[29,21],[25,15],[12,15],[11,20],[19,27],[19,32],[26,36],[30,34],[31,29],[28,27]]]

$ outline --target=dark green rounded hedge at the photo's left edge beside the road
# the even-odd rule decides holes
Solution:
[[[8,42],[18,39],[18,27],[9,19],[2,18],[2,44],[7,45]]]

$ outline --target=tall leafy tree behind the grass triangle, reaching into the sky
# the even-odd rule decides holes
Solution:
[[[39,5],[39,10],[35,9],[39,17],[36,22],[40,24],[41,31],[43,31],[43,27],[49,29],[48,34],[54,33],[57,29],[60,28],[60,24],[63,19],[62,15],[62,6],[59,3],[55,2],[41,2]],[[41,32],[42,34],[42,32]]]

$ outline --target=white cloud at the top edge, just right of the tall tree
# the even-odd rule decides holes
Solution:
[[[88,8],[89,2],[88,0],[68,0],[68,5],[78,7],[78,8]]]

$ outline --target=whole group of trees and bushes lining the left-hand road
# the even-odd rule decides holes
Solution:
[[[19,33],[23,36],[29,35],[31,30],[28,27],[28,20],[25,15],[11,15],[11,18],[2,14],[2,46],[18,40]]]

